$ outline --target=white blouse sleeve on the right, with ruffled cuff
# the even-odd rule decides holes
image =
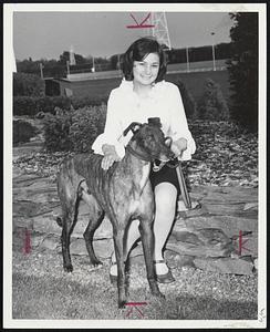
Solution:
[[[181,137],[187,139],[187,149],[183,152],[180,159],[189,160],[191,159],[191,155],[196,151],[196,145],[191,133],[188,129],[187,118],[180,92],[178,87],[173,84],[170,97],[170,137],[174,142]]]

